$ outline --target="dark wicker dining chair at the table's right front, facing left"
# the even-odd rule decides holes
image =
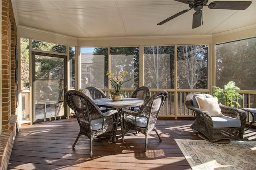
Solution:
[[[138,112],[128,109],[120,111],[122,141],[124,141],[124,135],[129,130],[137,130],[146,136],[145,152],[148,150],[148,134],[152,130],[156,132],[159,140],[162,141],[162,138],[156,130],[155,124],[159,112],[166,101],[167,95],[167,91],[158,91],[148,99]]]

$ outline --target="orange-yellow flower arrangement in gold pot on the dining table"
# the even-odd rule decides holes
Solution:
[[[128,72],[127,71],[123,71],[123,72],[121,72],[117,76],[115,76],[114,73],[107,72],[106,75],[109,77],[110,84],[112,85],[112,87],[115,90],[115,91],[111,92],[111,95],[123,94],[122,92],[120,92],[120,88],[121,88],[123,83],[125,83],[126,81],[129,81],[129,80],[124,81],[124,79],[123,79],[123,77],[125,75],[128,75]]]

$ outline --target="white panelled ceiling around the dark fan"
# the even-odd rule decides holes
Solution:
[[[157,25],[189,9],[188,4],[174,0],[12,0],[12,4],[17,26],[75,38],[103,38],[212,35],[255,26],[256,0],[247,1],[252,4],[246,10],[204,6],[204,24],[195,29],[192,29],[194,10]]]

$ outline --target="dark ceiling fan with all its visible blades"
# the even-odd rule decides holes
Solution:
[[[181,14],[184,14],[188,12],[191,9],[194,9],[196,12],[193,14],[193,24],[192,28],[197,28],[201,26],[201,20],[202,20],[202,8],[204,6],[208,6],[210,9],[222,9],[222,10],[245,10],[252,4],[251,1],[214,1],[207,5],[208,0],[175,0],[178,2],[182,2],[185,4],[188,4],[190,9],[183,10],[165,20],[162,22],[159,22],[157,25],[162,25],[173,18],[176,18],[177,16],[180,16]]]

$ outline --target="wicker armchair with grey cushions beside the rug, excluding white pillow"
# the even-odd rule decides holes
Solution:
[[[208,111],[199,109],[196,96],[212,97],[212,95],[194,92],[186,96],[185,105],[193,111],[195,117],[190,128],[197,130],[200,138],[215,143],[229,143],[230,139],[243,138],[246,123],[246,113],[243,110],[219,104],[223,116],[213,117]]]

